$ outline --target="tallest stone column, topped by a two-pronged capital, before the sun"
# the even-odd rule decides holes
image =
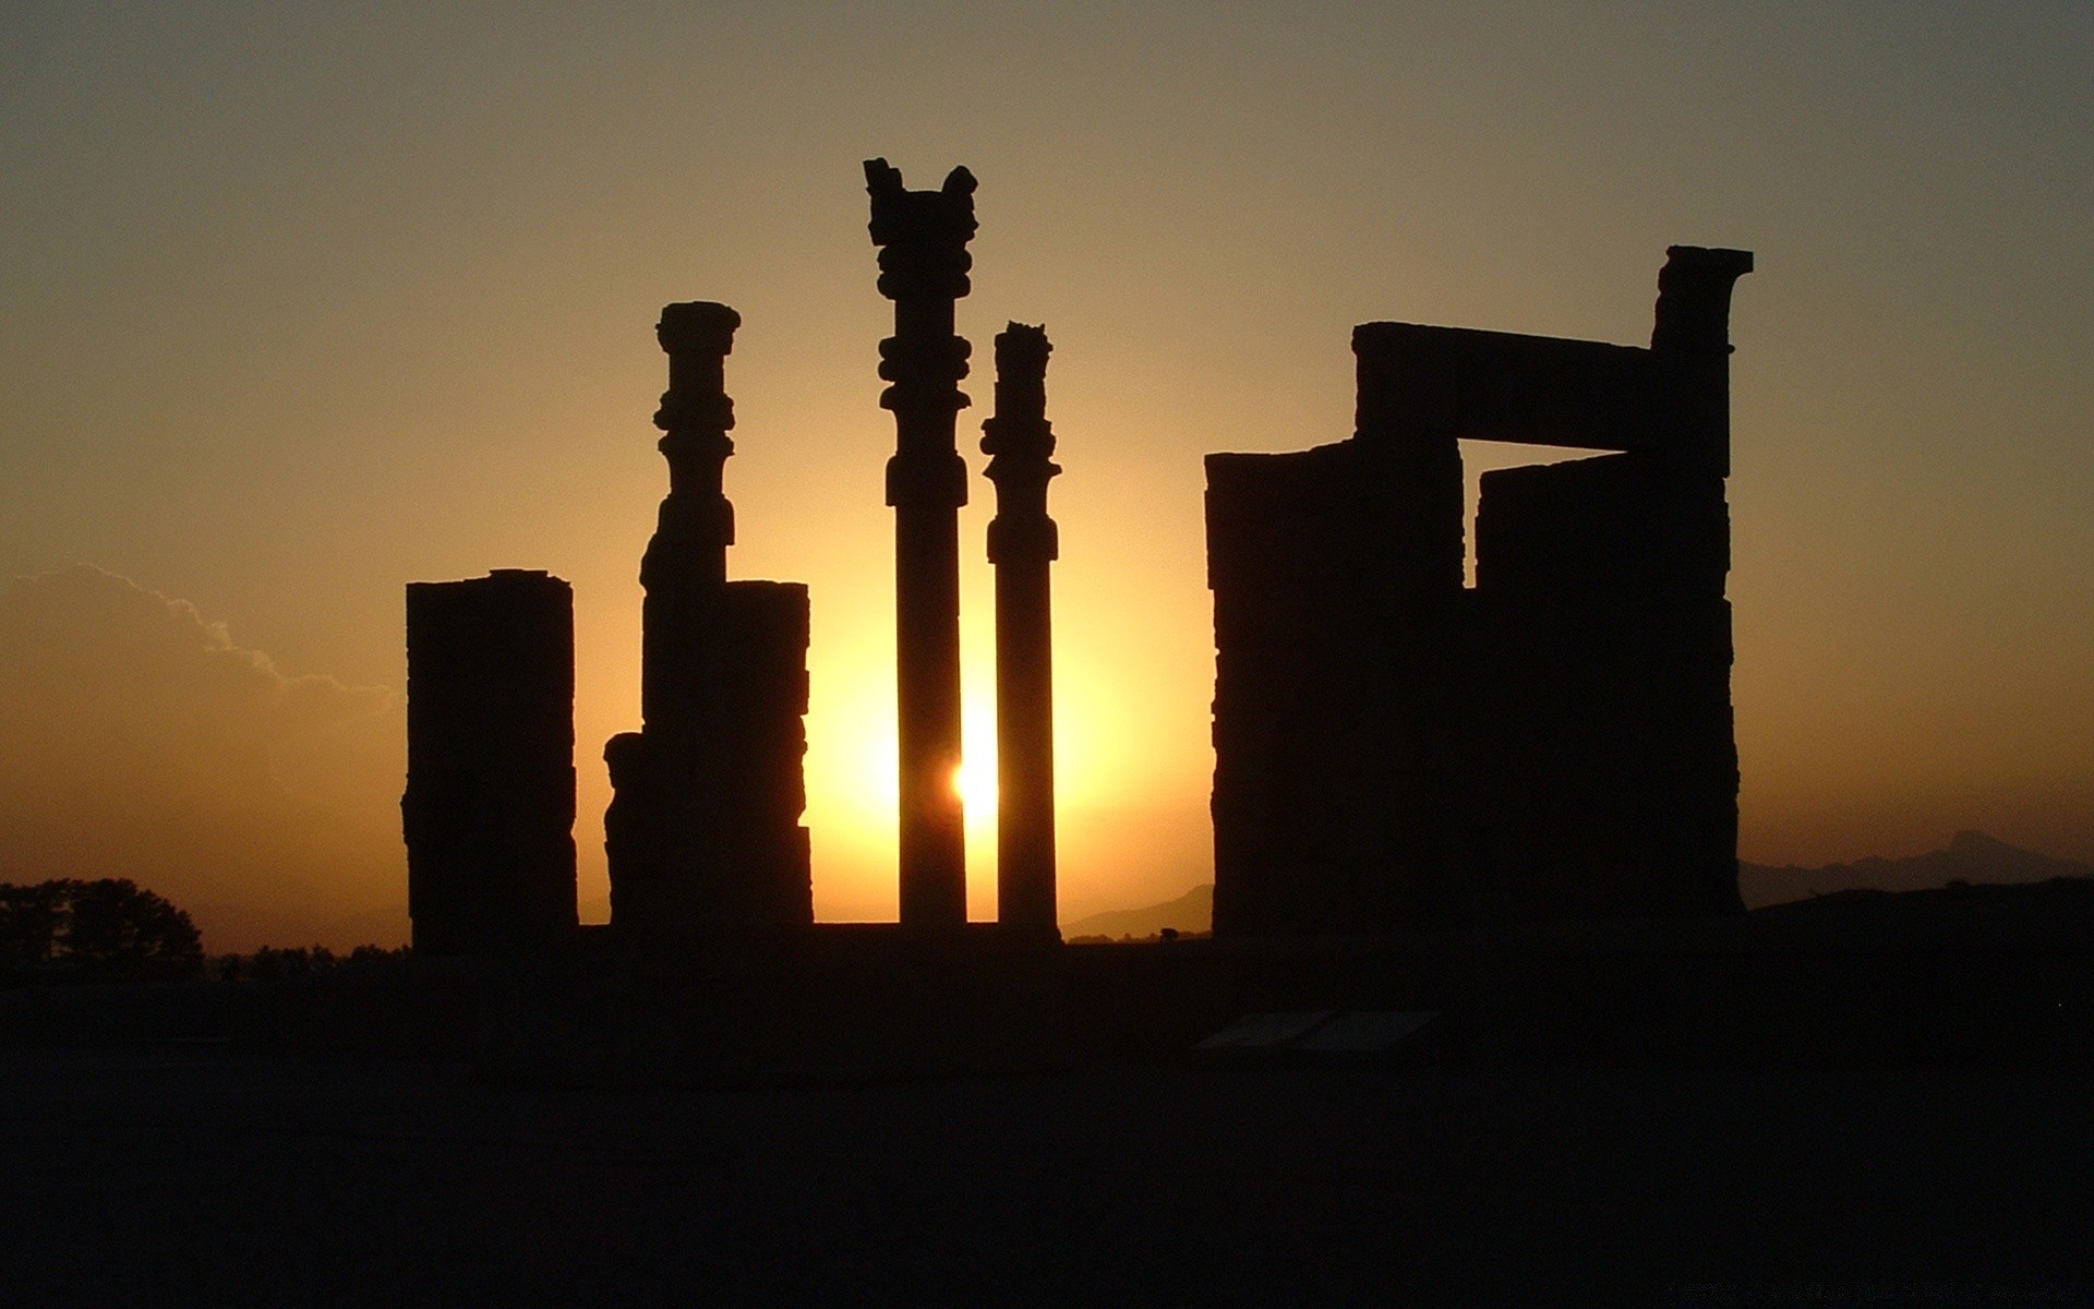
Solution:
[[[886,159],[865,161],[879,247],[879,293],[894,335],[879,343],[879,404],[894,413],[888,505],[894,507],[894,656],[900,735],[900,917],[907,928],[967,922],[967,850],[957,790],[959,507],[967,465],[955,415],[967,406],[967,341],[953,302],[967,293],[974,174],[955,168],[938,191],[905,191]]]

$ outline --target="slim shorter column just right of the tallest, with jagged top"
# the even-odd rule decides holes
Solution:
[[[997,517],[997,922],[1057,934],[1053,867],[1053,618],[1047,565],[1060,555],[1047,517],[1053,425],[1043,327],[997,333],[997,415],[982,423]]]

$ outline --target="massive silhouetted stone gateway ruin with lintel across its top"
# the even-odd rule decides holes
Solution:
[[[1210,454],[1215,934],[1738,911],[1734,249],[1650,348],[1367,323],[1351,440]],[[1483,475],[1460,440],[1610,450]]]

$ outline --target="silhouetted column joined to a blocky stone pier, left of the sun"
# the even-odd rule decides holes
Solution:
[[[655,329],[670,385],[655,413],[670,469],[641,561],[641,716],[603,758],[611,926],[808,924],[815,890],[806,754],[808,597],[796,582],[729,582],[735,511],[720,475],[735,442],[725,360],[741,316],[672,304]]]

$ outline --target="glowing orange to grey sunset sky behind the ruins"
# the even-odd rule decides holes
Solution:
[[[1349,436],[1355,323],[1644,343],[1673,243],[1757,253],[1740,855],[2094,859],[2090,6],[15,0],[0,880],[130,875],[211,949],[402,938],[402,584],[547,568],[601,919],[653,323],[718,299],[729,568],[812,591],[817,913],[890,917],[875,155],[980,178],[972,471],[990,337],[1055,343],[1064,919],[1212,875],[1200,457]]]

